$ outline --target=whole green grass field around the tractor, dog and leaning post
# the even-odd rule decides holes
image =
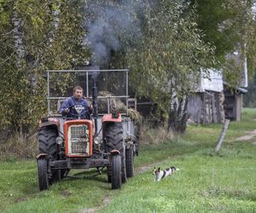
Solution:
[[[0,211],[256,212],[256,137],[236,141],[256,130],[256,109],[245,109],[240,123],[230,123],[221,151],[214,153],[221,128],[191,125],[175,140],[143,145],[137,170],[152,169],[114,191],[106,174],[94,176],[90,170],[73,171],[80,179],[63,180],[40,193],[36,161],[7,159],[0,163]],[[180,170],[153,181],[154,166],[171,165]]]

